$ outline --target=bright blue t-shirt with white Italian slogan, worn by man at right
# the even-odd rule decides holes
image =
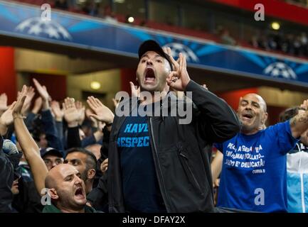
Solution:
[[[254,135],[238,133],[215,144],[223,153],[217,206],[286,212],[286,154],[297,141],[292,137],[290,121],[286,121]]]

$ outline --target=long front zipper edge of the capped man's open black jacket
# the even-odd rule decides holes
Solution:
[[[155,142],[154,142],[154,135],[153,135],[153,126],[152,126],[152,117],[149,116],[149,125],[150,125],[150,128],[151,128],[151,132],[149,132],[149,136],[150,136],[150,142],[152,144],[152,148],[154,150],[154,153],[153,154],[153,160],[154,160],[154,164],[156,166],[156,175],[157,175],[157,178],[159,180],[159,188],[161,190],[161,195],[163,196],[163,199],[164,199],[164,202],[165,202],[165,206],[166,206],[166,210],[167,212],[170,212],[171,209],[170,209],[170,199],[169,199],[169,196],[168,194],[166,193],[166,187],[165,187],[165,183],[164,183],[164,177],[163,177],[163,174],[162,174],[162,171],[161,171],[161,167],[159,165],[159,155],[157,153],[157,150],[156,150],[156,145],[155,145]],[[155,158],[156,157],[156,158]]]

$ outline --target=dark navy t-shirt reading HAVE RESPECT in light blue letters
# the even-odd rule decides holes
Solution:
[[[154,167],[147,116],[125,119],[117,138],[117,148],[127,211],[166,212]]]

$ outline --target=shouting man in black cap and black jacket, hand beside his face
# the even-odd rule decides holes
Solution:
[[[110,212],[214,211],[211,165],[204,148],[232,138],[240,124],[223,99],[189,78],[184,55],[180,53],[176,62],[171,50],[167,51],[169,54],[154,40],[139,47],[136,74],[141,99],[131,112],[154,104],[161,111],[177,108],[185,101],[176,99],[169,92],[172,88],[192,92],[193,104],[186,103],[193,105],[192,121],[179,124],[179,115],[104,116],[108,125],[113,121],[108,165]],[[142,92],[151,94],[150,98],[142,99]],[[117,109],[127,102],[132,99],[122,100]]]

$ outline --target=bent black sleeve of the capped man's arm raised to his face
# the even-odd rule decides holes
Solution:
[[[233,109],[221,98],[191,80],[186,92],[192,92],[192,101],[198,107],[196,119],[201,133],[211,143],[221,143],[240,131],[240,121]]]

